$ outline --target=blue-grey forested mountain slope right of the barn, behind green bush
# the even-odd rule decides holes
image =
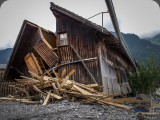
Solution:
[[[160,46],[150,41],[140,39],[135,34],[122,33],[128,48],[137,62],[146,62],[148,57],[155,57],[156,63],[160,64]],[[155,36],[155,38],[158,38]]]

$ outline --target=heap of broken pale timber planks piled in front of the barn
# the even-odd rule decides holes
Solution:
[[[98,92],[96,89],[100,88],[98,84],[81,84],[74,80],[69,80],[69,77],[75,73],[75,70],[71,70],[67,76],[66,70],[62,71],[59,76],[54,70],[53,73],[56,76],[39,76],[33,72],[29,73],[34,76],[33,78],[21,76],[22,79],[16,79],[18,84],[11,85],[16,93],[15,96],[9,98],[0,98],[1,100],[14,100],[24,103],[40,103],[41,97],[42,105],[46,105],[53,100],[64,99],[78,99],[86,102],[112,105],[119,108],[129,110],[130,107],[124,105],[126,101],[136,101],[134,98],[119,98],[113,99],[117,94],[105,94]]]

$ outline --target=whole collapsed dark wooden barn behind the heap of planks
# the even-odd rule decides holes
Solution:
[[[56,33],[24,21],[5,72],[5,80],[38,75],[59,74],[63,69],[79,83],[98,83],[108,94],[131,91],[127,73],[135,70],[134,60],[121,41],[108,30],[54,3]]]

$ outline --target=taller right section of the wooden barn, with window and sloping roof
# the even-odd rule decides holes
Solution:
[[[135,70],[133,61],[121,42],[109,31],[84,19],[54,3],[51,11],[56,17],[56,33],[58,55],[61,63],[93,59],[85,65],[93,75],[85,69],[82,62],[69,64],[59,68],[74,68],[74,80],[81,83],[103,85],[103,91],[109,94],[126,94],[130,92],[127,72]]]

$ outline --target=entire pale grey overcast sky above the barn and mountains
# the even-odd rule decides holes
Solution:
[[[84,18],[107,11],[104,0],[8,0],[0,8],[0,49],[13,47],[24,19],[55,32],[56,21],[50,11],[50,2],[64,7]],[[160,8],[152,0],[113,0],[120,29],[140,37],[160,33]],[[90,19],[101,25],[101,16]],[[108,14],[105,27],[113,31]]]

